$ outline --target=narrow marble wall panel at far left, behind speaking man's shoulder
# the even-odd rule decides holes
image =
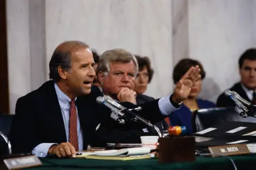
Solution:
[[[45,1],[8,0],[7,54],[10,114],[18,98],[46,80]]]

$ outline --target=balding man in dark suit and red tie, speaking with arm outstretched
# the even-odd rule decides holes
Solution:
[[[82,42],[64,42],[55,49],[49,64],[52,80],[17,101],[9,135],[13,152],[32,152],[38,157],[75,157],[77,150],[85,150],[88,145],[106,145],[99,127],[105,130],[143,127],[132,122],[117,124],[110,118],[109,109],[96,103],[102,93],[92,86],[93,66],[92,52]],[[199,68],[191,68],[173,95],[162,98],[162,102],[160,99],[142,105],[143,110],[137,114],[155,122],[163,119],[166,111],[177,110],[178,103],[186,98],[191,85],[199,78],[198,72]],[[131,95],[119,94],[125,107],[135,107],[125,102],[133,98]],[[150,110],[155,114],[148,115]]]

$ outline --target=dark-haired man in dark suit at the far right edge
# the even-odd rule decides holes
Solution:
[[[256,48],[246,50],[239,58],[239,74],[241,81],[229,90],[237,92],[245,100],[256,104]],[[229,96],[222,93],[217,99],[218,107],[235,107]]]

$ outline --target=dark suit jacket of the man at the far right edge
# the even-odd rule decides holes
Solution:
[[[244,91],[241,83],[236,83],[233,87],[229,89],[230,91],[237,92],[242,98],[245,100],[251,102],[251,100],[248,98],[246,92]],[[229,98],[229,96],[222,93],[219,98],[217,99],[217,106],[218,107],[235,107],[236,104],[233,100]]]

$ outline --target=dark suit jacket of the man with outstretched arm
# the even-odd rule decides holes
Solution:
[[[99,88],[92,86],[91,93],[79,96],[76,100],[78,116],[83,132],[84,149],[88,144],[102,147],[106,145],[106,129],[138,129],[145,127],[141,123],[126,122],[119,125],[110,118],[110,110],[97,104],[96,98],[102,96]],[[121,103],[126,108],[136,107],[126,102]],[[158,107],[158,100],[142,106],[138,115],[158,122],[164,119]],[[154,116],[149,111],[154,111]],[[10,129],[9,138],[13,152],[31,152],[40,143],[67,142],[65,127],[59,106],[59,101],[52,80],[44,83],[37,90],[18,99],[15,108],[15,118]],[[105,132],[96,131],[99,125]],[[104,128],[105,127],[105,128]]]

